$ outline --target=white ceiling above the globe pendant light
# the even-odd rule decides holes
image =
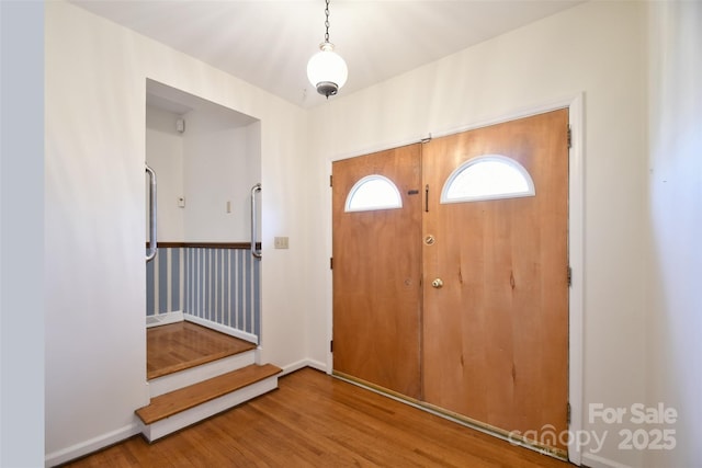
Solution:
[[[329,38],[349,67],[339,96],[584,0],[333,0]],[[325,101],[307,60],[325,34],[322,0],[72,0],[302,107]],[[337,99],[335,96],[330,99]]]

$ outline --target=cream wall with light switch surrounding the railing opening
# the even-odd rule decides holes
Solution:
[[[307,130],[302,110],[248,83],[75,5],[45,7],[45,449],[53,464],[134,433],[134,410],[147,402],[146,79],[261,121],[261,357],[284,367],[306,356],[307,283],[297,267],[307,258],[306,189],[297,182]],[[288,236],[290,250],[273,250],[273,236]]]

